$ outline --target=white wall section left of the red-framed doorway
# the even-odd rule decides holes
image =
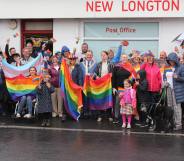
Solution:
[[[0,20],[0,47],[4,51],[6,40],[10,38],[10,47],[15,47],[18,53],[20,53],[21,41],[20,41],[20,21],[17,21],[17,28],[12,30],[8,25],[9,20]],[[16,38],[13,35],[19,34]]]

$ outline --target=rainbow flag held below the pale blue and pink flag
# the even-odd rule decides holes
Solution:
[[[39,78],[39,76],[37,77]],[[39,84],[39,79],[35,78],[25,77],[23,75],[13,78],[6,77],[6,86],[12,100],[18,101],[20,97],[25,95],[36,96],[35,89]]]

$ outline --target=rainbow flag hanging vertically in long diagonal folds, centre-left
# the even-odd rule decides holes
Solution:
[[[66,60],[61,63],[60,85],[66,111],[74,120],[78,120],[83,106],[82,87],[73,82]]]

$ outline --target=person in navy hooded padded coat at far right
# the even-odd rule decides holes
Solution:
[[[170,53],[167,62],[169,68],[167,67],[164,72],[164,82],[168,87],[167,104],[174,108],[175,130],[180,130],[182,129],[181,103],[184,102],[184,66],[179,64],[176,53]]]

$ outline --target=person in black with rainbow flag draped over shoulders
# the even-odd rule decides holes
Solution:
[[[129,79],[131,76],[136,77],[136,72],[133,69],[132,65],[128,62],[128,56],[123,54],[121,56],[121,62],[117,64],[113,69],[113,76],[112,76],[112,87],[113,87],[113,94],[115,95],[115,119],[114,123],[118,123],[119,113],[120,113],[120,103],[119,103],[119,96],[118,90],[124,88],[123,82],[126,79]]]

